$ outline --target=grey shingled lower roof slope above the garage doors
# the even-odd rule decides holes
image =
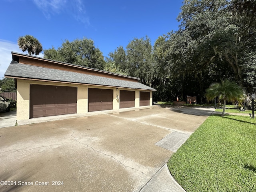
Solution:
[[[29,64],[21,64],[14,60],[12,60],[12,62],[10,63],[4,76],[30,80],[44,80],[53,82],[66,82],[74,84],[87,84],[156,91],[154,88],[151,88],[139,82],[118,80],[114,78],[82,74],[78,72],[46,68],[42,66],[33,66]]]

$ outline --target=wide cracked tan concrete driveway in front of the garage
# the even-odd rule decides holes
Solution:
[[[212,111],[155,106],[0,128],[0,191],[150,191]]]

